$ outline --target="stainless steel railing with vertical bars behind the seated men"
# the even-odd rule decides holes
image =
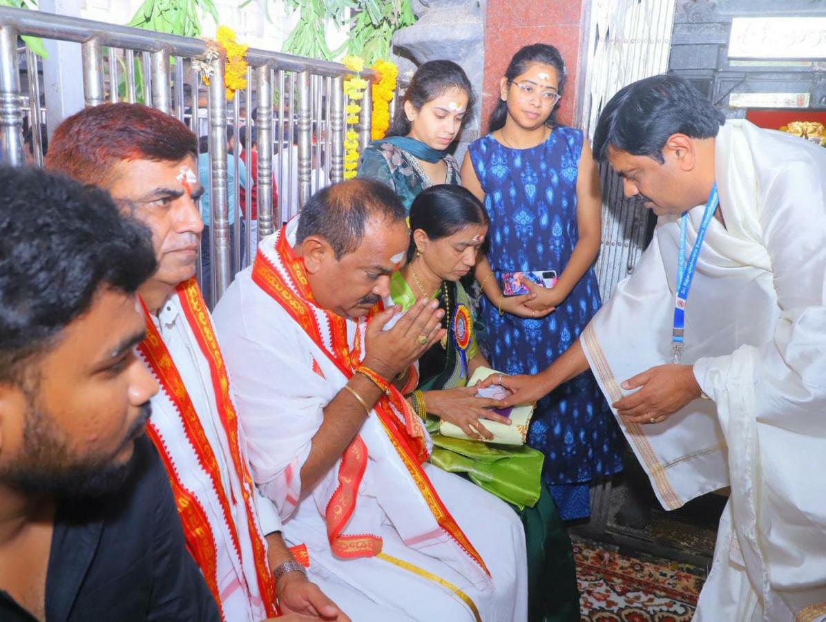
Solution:
[[[225,102],[225,59],[210,60],[209,86],[199,67],[207,61],[203,40],[165,35],[46,12],[0,7],[0,161],[20,165],[24,157],[24,117],[31,131],[31,158],[42,164],[41,123],[49,93],[41,70],[50,59],[38,59],[18,45],[19,36],[77,43],[81,47],[83,99],[86,106],[103,102],[137,102],[158,108],[188,123],[196,135],[208,136],[210,188],[209,248],[211,275],[205,291],[211,306],[232,278],[254,256],[251,192],[240,201],[240,188],[251,189],[252,171],[240,174],[240,126],[258,132],[257,224],[259,237],[269,235],[294,216],[312,192],[344,178],[343,64],[249,49],[247,88]],[[26,79],[21,80],[21,75]],[[372,79],[373,72],[361,76]],[[21,90],[21,84],[26,93]],[[278,98],[277,103],[273,100]],[[27,98],[29,106],[22,102]],[[358,126],[361,149],[370,140],[370,88],[365,93]],[[392,103],[395,107],[395,102]],[[251,118],[253,109],[255,118]],[[226,131],[235,128],[228,163]],[[53,131],[54,127],[48,128]],[[248,132],[249,140],[249,132]],[[247,158],[249,161],[249,158]],[[243,167],[245,168],[245,167]],[[233,181],[230,184],[230,170]],[[273,179],[278,203],[273,203]],[[232,204],[230,205],[230,197]],[[231,221],[230,221],[231,215]],[[241,253],[240,221],[247,223]],[[232,235],[230,235],[230,226]],[[203,279],[199,270],[199,278]]]

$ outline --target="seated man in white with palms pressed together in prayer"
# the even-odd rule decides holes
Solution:
[[[354,620],[525,620],[519,520],[425,462],[430,438],[389,382],[444,335],[425,299],[382,330],[405,216],[380,183],[325,188],[216,306],[254,479]]]

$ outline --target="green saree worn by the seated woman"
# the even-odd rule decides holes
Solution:
[[[393,304],[405,311],[415,295],[401,273],[390,280]],[[434,294],[445,311],[445,325],[457,304],[469,306],[461,283],[443,283]],[[468,361],[477,354],[476,337],[471,333]],[[443,347],[434,344],[419,359],[421,391],[464,387],[455,337],[448,331]],[[528,552],[528,618],[530,622],[579,622],[579,591],[573,548],[556,506],[541,483],[543,454],[527,445],[512,447],[480,441],[451,439],[439,434],[439,419],[428,415],[426,427],[433,439],[430,462],[445,471],[467,477],[477,486],[506,501],[520,515],[525,526]]]

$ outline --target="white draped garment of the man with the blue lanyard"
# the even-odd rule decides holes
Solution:
[[[731,486],[701,622],[826,615],[826,150],[748,121],[715,139],[720,210],[686,305],[682,363],[710,401],[619,420],[662,505]],[[704,207],[689,211],[687,248]],[[671,362],[679,219],[661,216],[582,345],[609,401]]]

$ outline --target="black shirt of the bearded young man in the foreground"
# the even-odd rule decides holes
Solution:
[[[135,472],[121,490],[59,504],[46,575],[47,622],[221,620],[187,551],[154,445],[142,436],[135,453]],[[35,618],[0,591],[0,620]]]

